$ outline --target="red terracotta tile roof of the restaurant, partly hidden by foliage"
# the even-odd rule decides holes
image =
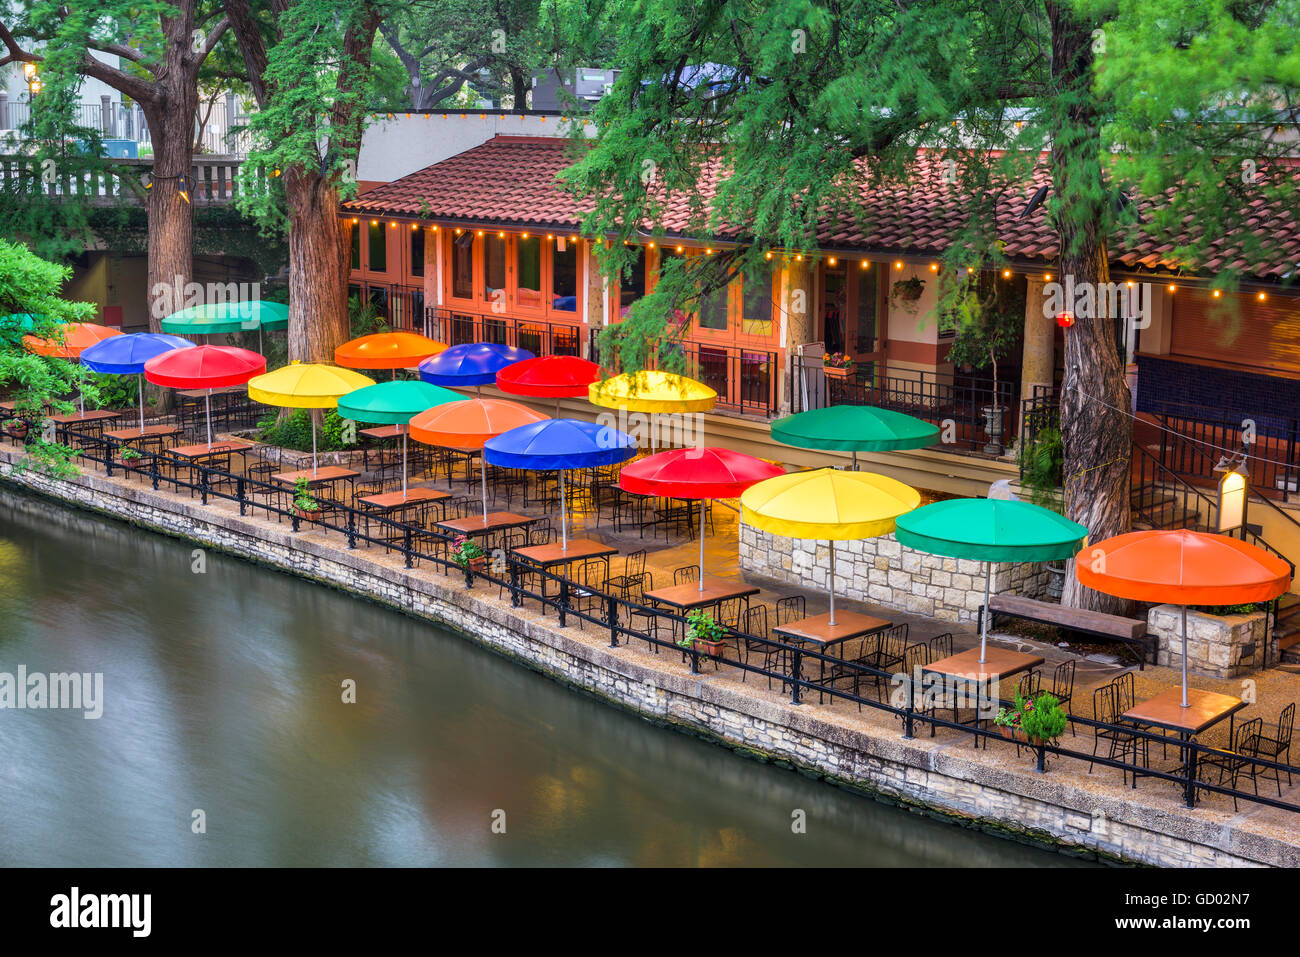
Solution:
[[[442,221],[484,225],[521,225],[576,229],[590,208],[578,203],[556,181],[572,163],[569,143],[538,137],[497,137],[442,163],[377,186],[346,203],[343,209],[360,215],[425,216]],[[701,178],[699,196],[710,199],[722,174],[722,164],[708,164]],[[1295,170],[1300,176],[1300,168]],[[1034,172],[1032,182],[1013,185],[996,196],[997,235],[1005,255],[1017,263],[1049,264],[1057,256],[1057,237],[1048,228],[1045,207],[1024,217],[1023,211],[1035,191],[1049,185],[1044,165]],[[965,224],[966,209],[953,196],[954,186],[942,182],[942,165],[936,157],[919,157],[910,185],[859,189],[857,211],[828,213],[818,228],[818,244],[826,250],[861,250],[888,255],[939,256]],[[1141,200],[1139,209],[1149,215],[1153,204]],[[663,226],[670,235],[693,235],[690,203],[677,196],[668,203]],[[1280,204],[1257,200],[1248,217],[1256,231],[1268,231],[1280,244],[1280,255],[1258,260],[1245,251],[1239,235],[1225,235],[1210,247],[1206,270],[1225,265],[1248,276],[1279,280],[1300,264],[1300,216]],[[1178,270],[1182,263],[1173,251],[1199,234],[1200,226],[1186,224],[1186,234],[1156,237],[1132,228],[1112,238],[1112,261],[1128,269]],[[715,239],[744,241],[744,229],[722,230]]]

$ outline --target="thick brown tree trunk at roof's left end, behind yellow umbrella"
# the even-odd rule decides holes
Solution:
[[[351,335],[347,274],[351,243],[338,192],[300,166],[285,173],[289,203],[289,358],[333,363]]]

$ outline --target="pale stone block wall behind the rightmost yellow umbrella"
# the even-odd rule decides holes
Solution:
[[[740,566],[826,592],[831,550],[824,541],[783,538],[741,524]],[[1048,598],[1052,572],[1041,562],[994,563],[989,570],[994,593]],[[984,603],[984,563],[915,551],[900,545],[892,534],[836,542],[835,593],[941,622],[976,622]]]

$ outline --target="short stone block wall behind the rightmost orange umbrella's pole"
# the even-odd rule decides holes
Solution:
[[[1182,668],[1182,609],[1157,605],[1147,615],[1147,629],[1157,638],[1158,663]],[[1187,612],[1187,670],[1197,675],[1235,677],[1252,671],[1264,661],[1265,641],[1271,642],[1269,661],[1275,662],[1277,641],[1269,637],[1269,616],[1264,611],[1249,615]]]

